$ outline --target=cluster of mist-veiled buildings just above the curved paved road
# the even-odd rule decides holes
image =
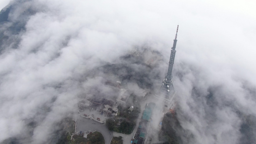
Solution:
[[[110,116],[117,115],[118,106],[125,105],[128,98],[132,95],[127,89],[121,88],[121,82],[113,82],[105,80],[103,82],[106,86],[114,88],[118,92],[117,97],[109,97],[108,99],[94,99],[94,96],[86,96],[83,100],[79,101],[78,109],[82,117],[87,119],[96,120],[100,123],[105,123],[106,119]],[[141,95],[146,96],[148,92],[143,92]]]

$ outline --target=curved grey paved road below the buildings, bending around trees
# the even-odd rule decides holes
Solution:
[[[101,132],[105,139],[105,144],[110,144],[111,139],[113,137],[113,132],[110,132],[105,124],[101,124],[95,120],[89,120],[86,118],[82,118],[81,116],[77,116],[76,120],[76,132],[79,131],[98,131]]]

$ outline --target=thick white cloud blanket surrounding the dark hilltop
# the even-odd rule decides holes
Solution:
[[[0,8],[9,1],[1,0]],[[241,144],[244,118],[237,111],[256,117],[254,0],[18,1],[0,27],[11,39],[1,44],[0,141],[29,137],[27,143],[47,143],[55,123],[76,111],[76,97],[89,82],[81,77],[117,63],[134,46],[158,50],[166,71],[179,24],[173,79],[178,117],[194,135],[187,143]],[[32,15],[23,19],[27,10]],[[7,31],[17,21],[25,28]],[[31,136],[27,121],[33,120]]]

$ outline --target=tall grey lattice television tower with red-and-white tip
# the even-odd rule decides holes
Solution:
[[[169,107],[171,107],[171,103],[172,103],[172,99],[173,96],[172,94],[174,93],[174,88],[172,85],[172,68],[173,68],[173,64],[174,64],[174,58],[175,58],[175,53],[176,53],[176,43],[177,43],[177,34],[178,34],[178,29],[179,29],[179,25],[177,26],[177,31],[176,31],[176,35],[175,35],[175,39],[173,40],[173,46],[171,48],[171,57],[170,57],[170,61],[169,61],[169,67],[168,67],[168,72],[165,76],[165,78],[163,79],[162,82],[162,86],[160,88],[160,93],[162,95],[164,95],[164,99],[167,103],[167,105],[169,105]]]

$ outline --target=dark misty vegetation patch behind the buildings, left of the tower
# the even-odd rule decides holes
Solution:
[[[140,49],[144,49],[140,51]],[[95,68],[88,72],[86,77],[95,77],[107,75],[118,76],[118,80],[122,82],[125,87],[127,83],[136,83],[143,89],[153,89],[154,80],[161,80],[161,71],[155,69],[157,66],[149,66],[145,62],[145,51],[151,51],[156,53],[158,57],[161,57],[157,51],[152,51],[150,48],[138,48],[138,55],[131,53],[120,57],[118,63],[104,63],[102,66]],[[159,62],[159,61],[158,61]],[[158,63],[156,62],[156,63]],[[157,64],[156,64],[157,65]]]

